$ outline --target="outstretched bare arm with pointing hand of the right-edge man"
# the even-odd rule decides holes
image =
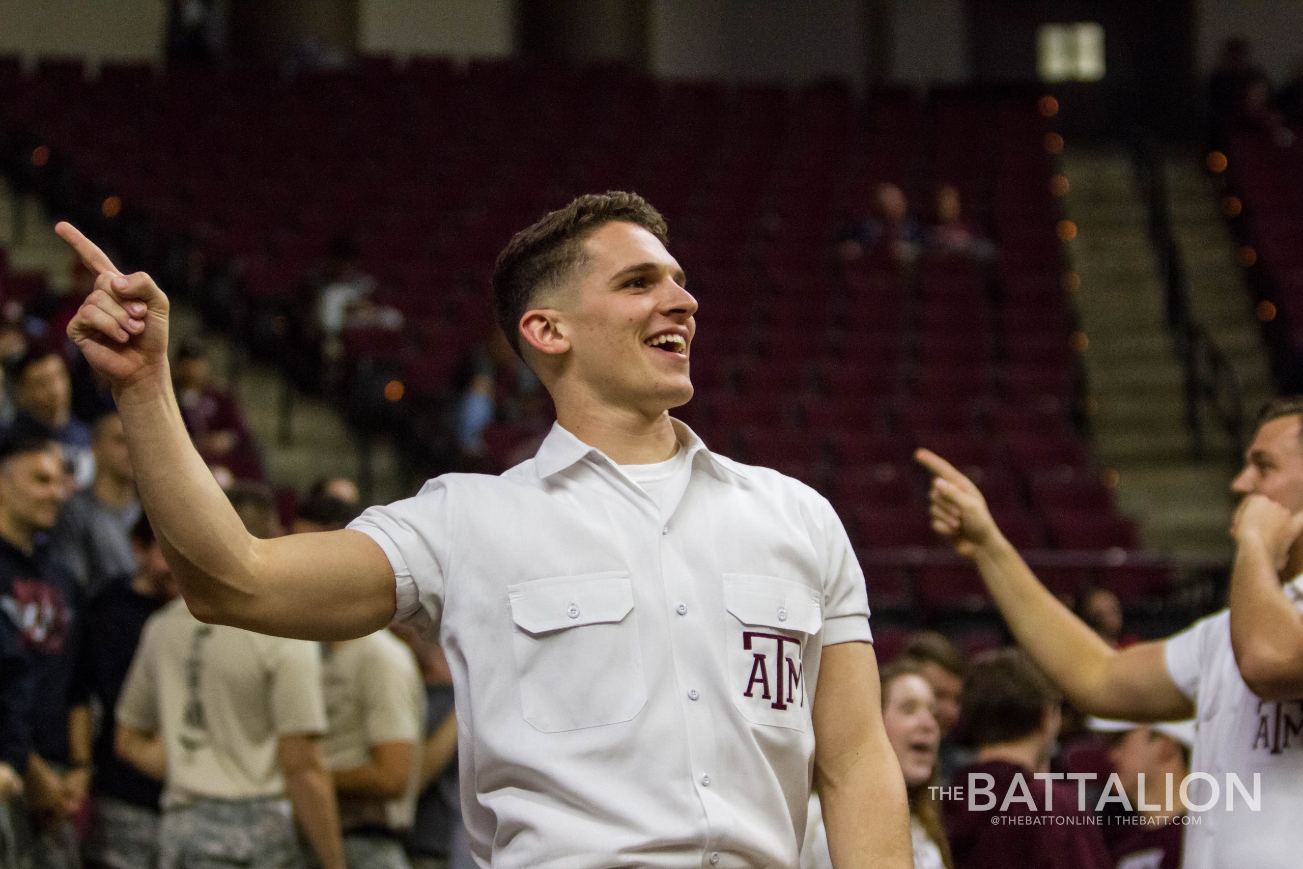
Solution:
[[[1074,706],[1134,722],[1190,718],[1194,706],[1167,674],[1162,642],[1110,648],[1050,593],[1005,539],[977,486],[941,456],[915,455],[933,474],[933,529],[977,565],[1014,638]]]

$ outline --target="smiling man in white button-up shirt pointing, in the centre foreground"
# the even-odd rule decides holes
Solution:
[[[481,865],[795,868],[812,774],[837,869],[912,865],[850,542],[812,490],[670,418],[697,302],[640,197],[581,197],[499,257],[499,321],[556,405],[534,459],[272,541],[185,436],[167,298],[59,231],[100,275],[69,335],[188,603],[291,637],[437,634]]]

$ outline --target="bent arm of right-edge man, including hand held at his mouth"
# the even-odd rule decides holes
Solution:
[[[1303,615],[1281,586],[1300,533],[1303,512],[1264,495],[1250,495],[1235,513],[1230,644],[1244,684],[1263,700],[1303,694]]]

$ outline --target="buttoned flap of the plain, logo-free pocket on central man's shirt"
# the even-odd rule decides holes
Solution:
[[[620,621],[633,608],[633,584],[624,571],[552,576],[507,586],[511,619],[529,633]]]

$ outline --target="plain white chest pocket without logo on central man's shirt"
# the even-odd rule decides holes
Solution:
[[[545,734],[627,722],[646,705],[633,586],[623,571],[507,586],[525,720]]]

